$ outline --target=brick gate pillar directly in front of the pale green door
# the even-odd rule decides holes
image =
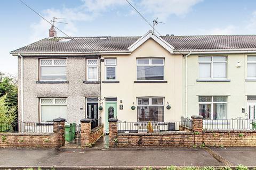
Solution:
[[[116,147],[117,146],[117,119],[116,118],[109,118],[109,147]]]

